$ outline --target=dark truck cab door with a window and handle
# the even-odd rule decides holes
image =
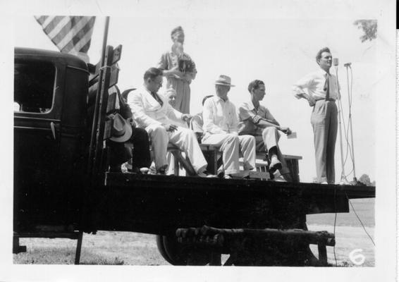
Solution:
[[[22,231],[51,223],[57,210],[62,97],[53,61],[16,54],[14,72],[14,231]]]

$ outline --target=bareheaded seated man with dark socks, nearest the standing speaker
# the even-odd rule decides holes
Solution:
[[[270,159],[269,173],[275,173],[278,170],[286,180],[290,180],[290,171],[278,147],[278,139],[280,138],[278,131],[290,135],[291,130],[280,126],[269,110],[259,104],[259,101],[262,101],[266,94],[262,80],[250,82],[248,91],[251,94],[250,101],[241,104],[238,108],[240,119],[238,132],[240,135],[255,136],[258,151],[266,150],[268,152]],[[276,174],[278,175],[278,173]],[[275,180],[283,179],[277,177]]]

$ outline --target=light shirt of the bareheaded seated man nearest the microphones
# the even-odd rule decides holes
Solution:
[[[263,128],[260,128],[252,121],[253,116],[261,116],[269,121],[276,121],[274,116],[270,114],[270,111],[261,104],[259,104],[258,109],[255,109],[251,100],[244,102],[238,108],[238,118],[240,120],[238,123],[238,133],[240,133],[240,135],[262,135]]]

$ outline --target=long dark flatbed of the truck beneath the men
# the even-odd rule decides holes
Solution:
[[[375,187],[106,173],[93,188],[97,230],[166,234],[203,225],[306,228],[306,214],[349,212],[348,199],[375,197]]]

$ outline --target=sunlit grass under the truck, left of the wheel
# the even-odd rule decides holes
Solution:
[[[77,240],[21,238],[27,252],[13,255],[14,264],[73,264]],[[84,234],[80,264],[163,265],[155,236],[142,233],[99,231]]]

